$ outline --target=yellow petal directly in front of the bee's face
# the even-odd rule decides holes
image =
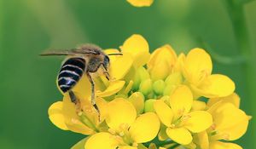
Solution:
[[[131,54],[112,55],[109,56],[109,59],[109,75],[112,79],[116,80],[125,77],[133,63]]]

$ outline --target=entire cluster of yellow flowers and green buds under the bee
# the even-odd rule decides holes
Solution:
[[[86,76],[73,89],[82,111],[68,94],[49,107],[55,126],[88,135],[73,149],[241,148],[228,141],[245,134],[250,117],[230,77],[212,74],[204,49],[177,55],[164,45],[150,54],[137,34],[119,49],[104,50],[123,54],[110,56],[110,81],[93,77],[100,118]]]

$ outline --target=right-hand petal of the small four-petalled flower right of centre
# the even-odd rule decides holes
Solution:
[[[199,133],[212,125],[212,115],[209,112],[195,111],[189,113],[184,127],[193,133]]]

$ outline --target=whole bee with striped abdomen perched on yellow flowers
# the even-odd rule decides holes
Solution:
[[[99,46],[95,44],[83,44],[77,49],[61,49],[45,51],[41,56],[49,55],[67,55],[67,59],[62,62],[61,70],[57,76],[57,86],[61,92],[68,92],[70,99],[76,105],[79,105],[79,99],[73,93],[73,87],[79,82],[80,78],[85,74],[91,84],[91,104],[99,113],[95,100],[95,83],[91,77],[91,73],[103,68],[104,76],[109,80],[109,57],[108,55],[122,54],[105,54]]]

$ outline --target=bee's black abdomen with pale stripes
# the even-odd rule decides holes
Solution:
[[[85,60],[82,58],[70,58],[61,66],[58,75],[58,86],[63,93],[72,89],[83,76]]]

